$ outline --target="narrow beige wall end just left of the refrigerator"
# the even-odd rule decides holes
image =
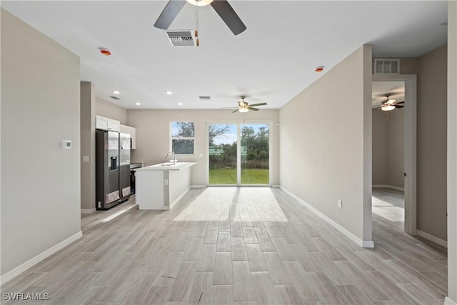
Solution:
[[[81,82],[81,210],[95,209],[95,86]],[[89,162],[83,161],[89,156]]]

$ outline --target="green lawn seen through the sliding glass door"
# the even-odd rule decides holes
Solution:
[[[268,184],[268,169],[242,169],[241,184]],[[210,169],[209,184],[236,184],[236,169]]]

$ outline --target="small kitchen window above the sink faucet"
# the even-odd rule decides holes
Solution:
[[[194,122],[171,122],[171,151],[175,154],[194,154]]]

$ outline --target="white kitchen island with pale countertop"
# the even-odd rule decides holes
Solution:
[[[141,210],[169,210],[191,187],[196,162],[171,162],[136,169],[136,204]]]

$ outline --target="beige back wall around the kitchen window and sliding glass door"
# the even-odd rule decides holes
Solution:
[[[195,155],[177,156],[179,161],[196,161],[192,168],[191,184],[206,185],[206,146],[208,141],[206,122],[208,121],[271,121],[271,154],[273,181],[279,184],[278,159],[278,110],[262,109],[249,111],[243,115],[232,114],[231,110],[131,110],[127,111],[129,126],[136,127],[136,150],[132,151],[132,162],[144,162],[146,165],[164,162],[166,153],[170,151],[170,122],[194,121],[195,123]],[[203,157],[199,157],[203,154]]]

